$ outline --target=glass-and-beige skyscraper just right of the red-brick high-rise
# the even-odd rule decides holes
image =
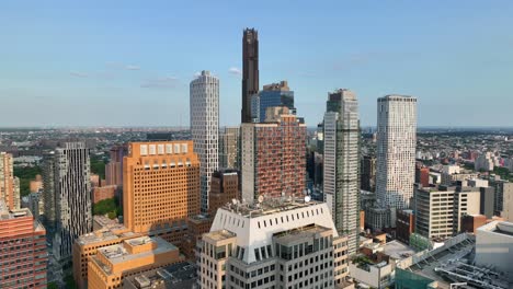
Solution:
[[[337,101],[335,101],[337,100]],[[324,200],[349,253],[356,253],[360,233],[360,118],[356,95],[349,90],[329,94],[324,115]]]

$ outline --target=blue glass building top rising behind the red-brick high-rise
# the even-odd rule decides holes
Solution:
[[[267,107],[273,106],[286,106],[290,114],[296,114],[294,91],[290,91],[287,81],[264,85],[262,91],[251,96],[253,123],[265,122],[265,112]]]

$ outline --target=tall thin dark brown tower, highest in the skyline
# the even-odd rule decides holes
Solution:
[[[259,32],[246,28],[242,37],[242,123],[252,123],[251,96],[259,92]]]

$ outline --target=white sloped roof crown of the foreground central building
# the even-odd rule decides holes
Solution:
[[[217,210],[210,232],[227,230],[237,234],[237,245],[244,248],[242,261],[250,264],[256,262],[254,248],[272,246],[273,234],[308,224],[329,228],[333,236],[339,236],[328,205],[316,201],[293,201],[260,209],[226,206]]]

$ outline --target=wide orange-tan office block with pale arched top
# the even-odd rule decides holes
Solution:
[[[200,160],[193,142],[130,142],[123,166],[125,227],[180,246],[186,219],[200,213]]]

